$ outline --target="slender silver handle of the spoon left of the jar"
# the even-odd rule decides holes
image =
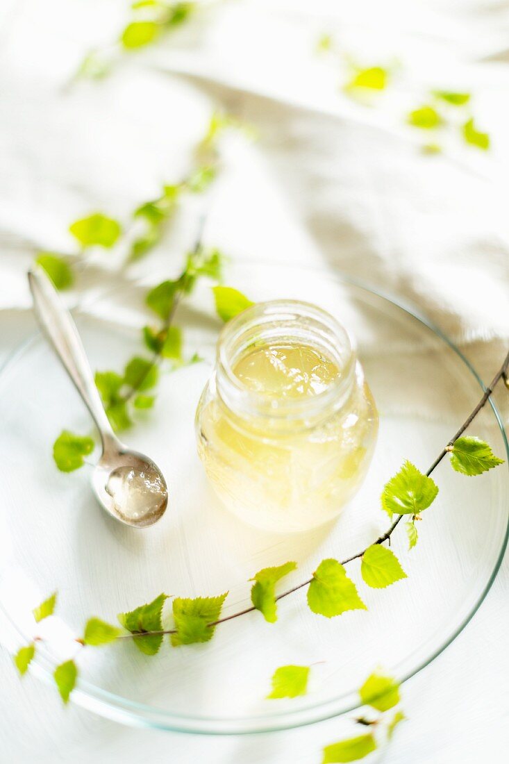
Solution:
[[[76,329],[76,324],[70,312],[63,306],[53,283],[44,273],[41,267],[35,267],[28,273],[28,283],[34,298],[34,311],[37,320],[44,330],[58,358],[63,364],[67,374],[83,398],[87,409],[96,422],[101,435],[102,448],[116,442],[112,426],[102,406],[99,391],[89,361],[86,358],[85,348]]]

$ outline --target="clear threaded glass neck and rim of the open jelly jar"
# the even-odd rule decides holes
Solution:
[[[246,387],[235,365],[254,345],[307,345],[336,364],[339,374],[309,397],[267,396]],[[257,426],[280,431],[313,426],[340,410],[355,381],[349,335],[329,313],[297,300],[257,303],[229,321],[219,335],[216,388],[227,409]]]

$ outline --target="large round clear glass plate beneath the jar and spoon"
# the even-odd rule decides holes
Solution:
[[[89,432],[86,410],[46,342],[36,335],[0,375],[0,604],[2,639],[15,650],[35,634],[33,670],[51,679],[55,665],[80,652],[73,699],[128,724],[193,733],[286,729],[344,714],[356,690],[381,665],[400,681],[423,669],[454,639],[484,599],[507,542],[507,465],[478,478],[444,460],[433,477],[439,496],[407,549],[404,523],[393,549],[408,578],[369,589],[360,565],[349,575],[368,606],[330,620],[306,607],[305,591],[278,604],[279,619],[258,612],[216,629],[205,645],[170,647],[155,657],[131,640],[81,650],[73,642],[87,618],[151,601],[161,591],[198,596],[229,590],[223,615],[250,604],[248,579],[267,565],[297,560],[290,587],[309,578],[323,558],[345,558],[387,527],[381,487],[409,458],[423,471],[481,396],[481,380],[459,351],[413,309],[325,270],[243,261],[228,283],[252,299],[306,299],[328,309],[356,338],[378,403],[380,435],[365,484],[332,525],[300,535],[271,535],[227,513],[207,484],[196,455],[193,418],[211,370],[220,324],[203,284],[180,309],[186,352],[206,361],[162,374],[157,403],[125,434],[150,454],[170,487],[170,507],[151,529],[115,523],[92,497],[90,467],[63,474],[51,445],[62,429]],[[144,290],[102,294],[76,311],[92,367],[122,369],[142,352],[139,329],[152,319]],[[104,319],[104,316],[107,319]],[[507,458],[494,406],[470,432]],[[31,609],[54,589],[55,617],[34,623]],[[171,623],[170,600],[164,610]],[[279,665],[313,665],[303,698],[267,700]]]

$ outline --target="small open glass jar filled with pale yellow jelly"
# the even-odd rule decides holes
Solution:
[[[225,324],[196,412],[199,456],[251,525],[332,520],[365,477],[378,414],[349,335],[307,303],[258,303]]]

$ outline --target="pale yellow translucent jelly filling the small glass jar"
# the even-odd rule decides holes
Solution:
[[[338,364],[310,345],[267,342],[232,364],[242,388],[277,407],[316,398],[341,379]],[[374,401],[357,364],[341,406],[321,416],[272,422],[233,413],[206,388],[197,413],[199,455],[223,503],[254,526],[303,531],[336,517],[358,489],[378,427]]]

